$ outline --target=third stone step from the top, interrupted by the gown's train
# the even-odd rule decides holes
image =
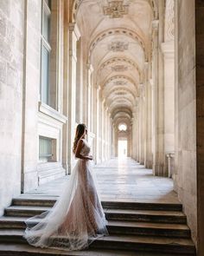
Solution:
[[[0,229],[24,229],[26,218],[2,217],[0,218]],[[38,220],[30,221],[35,225]],[[132,222],[132,221],[108,221],[107,229],[110,234],[135,234],[146,236],[163,236],[190,238],[190,230],[187,225],[181,224],[163,224],[150,222]]]

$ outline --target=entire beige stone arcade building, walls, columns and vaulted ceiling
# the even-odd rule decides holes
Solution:
[[[126,141],[127,156],[174,180],[203,252],[197,2],[0,0],[0,213],[72,172],[84,122],[95,163]]]

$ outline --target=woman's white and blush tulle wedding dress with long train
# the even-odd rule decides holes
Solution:
[[[83,139],[80,154],[90,154]],[[92,178],[91,162],[79,159],[54,207],[29,218],[24,234],[30,245],[81,250],[97,238],[107,235],[106,220]],[[33,226],[34,220],[37,224]]]

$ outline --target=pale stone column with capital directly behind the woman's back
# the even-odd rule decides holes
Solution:
[[[76,65],[77,41],[80,39],[80,30],[75,23],[69,24],[69,89],[68,89],[68,160],[69,173],[74,164],[73,140],[75,135],[75,109],[76,109]]]

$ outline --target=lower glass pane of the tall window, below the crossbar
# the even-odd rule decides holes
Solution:
[[[42,46],[41,56],[41,102],[48,104],[48,92],[49,92],[49,52]]]

